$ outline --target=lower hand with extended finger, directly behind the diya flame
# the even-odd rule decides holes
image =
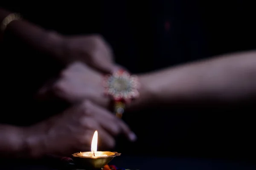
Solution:
[[[42,130],[41,127],[47,127]],[[98,130],[99,146],[110,149],[115,146],[114,137],[125,134],[131,141],[136,136],[122,120],[91,102],[83,102],[64,113],[34,125],[27,138],[32,155],[70,155],[79,151],[90,151],[93,133]],[[39,130],[38,130],[39,129]],[[35,140],[41,142],[36,145]],[[37,146],[35,148],[35,146]]]

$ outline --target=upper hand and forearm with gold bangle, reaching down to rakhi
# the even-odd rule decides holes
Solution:
[[[0,8],[0,21],[9,14],[10,11]],[[114,69],[111,48],[100,35],[64,36],[24,19],[9,23],[6,30],[0,32],[2,39],[5,33],[12,34],[31,48],[52,56],[65,65],[79,60],[100,72],[110,73]]]

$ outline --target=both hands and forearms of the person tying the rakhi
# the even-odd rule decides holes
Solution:
[[[0,21],[11,13],[11,11],[0,8]],[[64,65],[80,61],[103,73],[110,73],[114,67],[111,48],[99,35],[67,37],[36,26],[24,19],[9,23],[4,32],[0,32],[0,40],[4,41],[9,34],[29,47],[58,59]],[[102,107],[82,101],[84,100],[76,103],[76,107],[80,110],[70,108],[61,115],[31,127],[0,125],[0,156],[37,158],[46,154],[70,154],[71,151],[81,151],[90,147],[90,138],[96,129],[99,129],[101,136],[108,139],[102,138],[102,145],[108,148],[115,145],[114,136],[122,133],[126,134],[128,139],[135,140],[136,136],[130,132],[124,122],[116,120]],[[81,102],[83,104],[78,104]],[[94,112],[97,113],[92,115],[91,113]],[[102,115],[96,116],[99,113]],[[84,122],[73,119],[77,115],[81,116]],[[112,123],[105,125],[103,118],[111,120]],[[94,122],[93,125],[91,122]],[[70,135],[74,135],[75,140],[70,140],[72,137]],[[59,139],[65,141],[63,145],[60,145]],[[84,140],[81,141],[81,139]]]

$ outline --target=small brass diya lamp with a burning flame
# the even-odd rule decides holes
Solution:
[[[101,169],[108,164],[114,157],[120,156],[121,153],[110,151],[97,151],[98,144],[98,131],[96,130],[93,135],[91,144],[91,152],[74,153],[73,160],[76,166],[88,169]]]

